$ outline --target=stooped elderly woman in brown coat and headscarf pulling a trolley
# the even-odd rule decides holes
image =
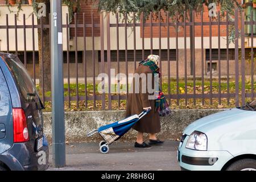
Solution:
[[[133,126],[133,129],[138,131],[137,140],[134,144],[135,147],[148,148],[151,147],[151,145],[163,144],[162,141],[156,138],[156,133],[160,132],[160,118],[159,112],[156,109],[156,100],[154,99],[155,92],[148,92],[148,86],[154,89],[154,73],[159,74],[158,64],[159,56],[157,55],[149,55],[146,60],[139,63],[139,67],[136,69],[135,73],[138,73],[138,75],[144,73],[146,77],[150,74],[152,82],[148,78],[146,78],[146,81],[143,81],[141,77],[139,81],[133,78],[133,90],[128,95],[126,116],[139,114],[143,109],[151,109],[147,115]],[[151,83],[151,86],[148,85]],[[139,93],[135,92],[135,85],[139,85]],[[142,92],[143,88],[146,89],[144,93]],[[143,133],[149,134],[149,143],[143,142]]]

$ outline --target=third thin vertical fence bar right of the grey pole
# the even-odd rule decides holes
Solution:
[[[83,22],[83,35],[84,35],[84,93],[85,93],[85,107],[87,108],[87,67],[86,67],[86,24],[85,24],[85,13],[82,14],[82,22]]]

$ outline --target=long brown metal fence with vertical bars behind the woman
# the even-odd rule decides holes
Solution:
[[[162,16],[163,13],[159,13],[159,17]],[[164,13],[166,14],[165,17],[169,17],[168,12]],[[197,102],[200,102],[201,105],[205,105],[205,102],[209,101],[209,105],[213,105],[213,101],[217,100],[218,104],[221,105],[222,104],[222,99],[225,98],[227,104],[230,104],[230,100],[233,99],[234,100],[234,104],[236,106],[240,105],[240,104],[245,104],[246,99],[249,100],[253,100],[255,97],[255,93],[254,93],[254,48],[253,48],[253,40],[254,40],[254,36],[253,34],[250,35],[250,41],[251,41],[251,61],[250,61],[250,67],[251,67],[251,72],[250,73],[245,73],[245,27],[246,25],[251,25],[251,32],[253,32],[253,26],[256,25],[256,22],[253,20],[253,13],[251,13],[250,16],[250,20],[249,21],[245,21],[245,12],[243,10],[236,10],[235,14],[234,14],[234,20],[229,20],[228,19],[228,12],[225,13],[226,14],[226,19],[223,20],[220,16],[220,13],[218,13],[218,16],[216,19],[212,20],[212,18],[209,19],[204,19],[203,18],[203,12],[201,12],[200,17],[201,17],[201,22],[195,22],[195,13],[193,13],[193,17],[192,17],[192,22],[188,22],[187,20],[183,20],[180,21],[178,19],[178,15],[176,15],[175,20],[170,20],[170,18],[166,18],[164,21],[158,20],[158,22],[154,21],[153,22],[153,14],[150,14],[150,17],[148,19],[147,22],[137,22],[135,20],[135,18],[133,18],[133,22],[127,22],[127,15],[124,16],[124,21],[122,23],[119,22],[119,15],[116,14],[115,19],[116,22],[115,23],[110,23],[110,14],[106,13],[106,16],[104,15],[104,13],[100,14],[100,23],[95,23],[94,20],[94,14],[91,14],[91,23],[85,23],[85,14],[83,14],[83,23],[77,23],[77,15],[75,15],[74,17],[74,23],[73,24],[69,24],[68,22],[68,15],[66,16],[66,22],[63,24],[63,28],[67,30],[67,65],[68,65],[68,83],[67,83],[67,93],[65,95],[65,102],[67,102],[68,107],[71,107],[71,102],[75,102],[76,103],[76,107],[79,108],[81,107],[80,102],[82,101],[82,105],[84,105],[84,107],[86,109],[88,109],[88,103],[90,102],[90,104],[92,104],[92,107],[94,109],[100,108],[102,110],[108,109],[111,110],[113,109],[113,102],[117,102],[118,107],[120,107],[120,103],[122,100],[127,100],[127,94],[112,94],[112,93],[108,93],[108,94],[100,94],[96,92],[96,88],[97,88],[97,84],[96,84],[96,58],[95,58],[95,40],[94,40],[94,29],[95,28],[100,28],[100,47],[101,49],[100,51],[100,71],[102,73],[105,72],[105,67],[107,67],[108,69],[108,74],[110,75],[110,68],[112,68],[112,55],[111,55],[111,45],[115,44],[116,46],[116,59],[117,59],[117,73],[120,72],[120,66],[119,66],[119,42],[120,39],[122,39],[122,41],[125,42],[125,73],[126,75],[128,74],[128,60],[127,60],[127,52],[128,52],[128,48],[127,48],[127,39],[131,39],[133,38],[133,51],[134,51],[134,70],[137,68],[138,66],[138,57],[137,57],[137,39],[136,39],[136,31],[133,31],[133,37],[127,35],[127,28],[133,28],[134,30],[136,28],[141,28],[141,39],[142,39],[142,59],[145,59],[146,57],[144,56],[144,52],[146,51],[145,45],[144,45],[144,41],[145,39],[150,39],[150,53],[153,53],[153,47],[154,47],[154,41],[153,41],[153,28],[154,27],[158,27],[158,52],[159,55],[161,57],[162,55],[162,42],[163,42],[163,37],[161,35],[161,30],[163,27],[168,27],[167,28],[167,89],[166,89],[166,97],[167,100],[169,102],[169,104],[173,104],[175,103],[175,105],[179,106],[180,102],[182,102],[185,106],[192,104],[192,105],[196,105]],[[143,16],[143,15],[142,15]],[[31,16],[32,18],[32,22],[34,22],[34,15]],[[27,51],[26,51],[26,29],[32,29],[32,42],[33,42],[33,47],[32,47],[32,63],[33,63],[33,78],[34,81],[36,80],[36,69],[35,69],[35,30],[38,30],[41,32],[41,34],[43,35],[43,28],[48,28],[50,31],[50,26],[49,24],[38,24],[35,25],[34,23],[32,23],[31,25],[27,25],[26,24],[26,19],[23,16],[23,25],[17,25],[16,24],[16,16],[15,16],[15,24],[14,25],[9,25],[8,23],[9,17],[8,15],[6,15],[6,25],[5,26],[0,26],[0,30],[1,29],[5,29],[6,30],[6,37],[7,37],[7,52],[9,52],[9,30],[10,29],[14,29],[15,30],[15,53],[18,54],[18,43],[17,43],[17,36],[23,36],[24,37],[24,65],[27,65]],[[106,26],[104,26],[104,22],[106,20]],[[212,27],[213,26],[217,26],[217,37],[218,37],[218,75],[217,75],[217,93],[213,92],[213,74],[212,74]],[[221,75],[221,60],[220,60],[220,49],[223,45],[221,45],[221,41],[220,41],[220,34],[221,34],[221,26],[225,26],[226,28],[226,80],[225,82],[222,80],[222,75]],[[234,50],[235,50],[235,67],[234,67],[234,71],[235,71],[235,75],[234,75],[234,85],[235,85],[235,89],[234,92],[230,90],[230,65],[229,65],[229,27],[230,26],[234,26],[234,30],[235,30],[235,39],[234,39]],[[119,28],[120,27],[124,27],[124,31],[125,31],[125,37],[120,37],[119,36]],[[150,37],[149,38],[145,38],[144,36],[144,29],[146,27],[150,28]],[[174,27],[175,31],[171,32],[169,27]],[[179,31],[178,28],[182,27],[183,28],[183,32],[184,35],[179,35]],[[188,73],[187,70],[187,60],[190,59],[190,57],[187,55],[187,32],[188,32],[188,28],[192,28],[192,44],[191,44],[191,48],[192,48],[192,65],[194,65],[192,67],[193,69],[193,73],[196,72],[196,58],[195,58],[195,27],[201,27],[200,30],[200,34],[201,34],[201,60],[200,60],[200,69],[201,69],[201,75],[200,75],[200,93],[197,92],[196,90],[196,85],[197,85],[197,78],[196,78],[196,74],[193,74],[191,76],[190,73]],[[204,67],[205,67],[205,58],[204,58],[204,28],[205,27],[209,27],[209,65],[210,65],[210,73],[209,73],[209,92],[205,93],[205,71],[204,71]],[[241,30],[240,28],[241,27]],[[80,95],[80,88],[79,88],[79,74],[78,74],[78,46],[77,46],[77,31],[80,28],[80,30],[82,30],[82,34],[83,34],[83,54],[84,56],[82,57],[83,61],[82,61],[82,65],[84,67],[84,88],[83,89],[83,94]],[[104,28],[106,28],[106,30],[104,31]],[[23,35],[17,35],[17,30],[18,29],[23,29]],[[75,36],[74,36],[74,40],[75,40],[75,64],[76,64],[76,68],[71,70],[69,68],[69,57],[70,57],[70,50],[69,50],[69,34],[71,32],[71,30],[73,30],[75,32]],[[86,61],[86,53],[88,53],[88,49],[86,49],[86,30],[90,30],[90,34],[92,37],[92,49],[90,49],[89,51],[92,51],[92,68],[93,68],[93,84],[92,84],[92,90],[90,90],[89,94],[89,88],[88,88],[88,82],[87,82],[87,73],[86,73],[86,67],[88,65],[86,65],[87,61]],[[115,30],[115,39],[112,39],[113,34],[111,33],[112,30]],[[174,81],[171,80],[171,69],[174,69],[172,67],[170,67],[170,34],[174,33],[175,34],[175,42],[171,42],[171,44],[175,44],[176,46],[176,79]],[[184,38],[184,66],[180,67],[179,65],[179,38],[183,37]],[[106,39],[105,39],[106,38]],[[115,42],[113,42],[113,40],[116,40]],[[240,46],[240,41],[241,40],[241,46]],[[105,44],[106,41],[106,44]],[[39,43],[39,44],[42,44]],[[107,54],[105,56],[104,51],[106,50]],[[43,49],[42,49],[42,55],[43,55]],[[43,59],[42,59],[43,60]],[[160,59],[160,70],[162,70],[163,65],[162,65],[162,60]],[[179,71],[183,69],[184,70],[184,77],[182,78],[184,80],[184,92],[180,91],[180,76],[179,76]],[[71,94],[71,83],[70,83],[70,72],[76,72],[76,86],[75,86],[75,95]],[[250,77],[250,88],[246,89],[246,75]],[[188,78],[189,76],[189,78]],[[192,80],[192,92],[188,92],[188,79]],[[109,83],[111,83],[111,79],[109,77]],[[128,77],[126,82],[128,82]],[[163,84],[163,80],[161,80],[161,84]],[[175,85],[175,92],[171,92],[171,86],[172,86],[172,82],[174,82]],[[183,81],[182,81],[183,82]],[[42,83],[44,85],[44,82]],[[225,84],[225,92],[224,90],[222,90],[222,86],[221,84]],[[111,87],[111,84],[109,84],[109,89]],[[129,84],[126,84],[126,89],[129,90]],[[42,90],[42,99],[43,102],[48,102],[51,101],[51,97],[47,96],[47,94],[44,92],[44,90]],[[189,100],[192,100],[192,102],[188,102]],[[99,105],[97,104],[97,102],[99,103]]]

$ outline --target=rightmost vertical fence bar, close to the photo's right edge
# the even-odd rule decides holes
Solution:
[[[254,100],[253,9],[251,9],[251,100]]]

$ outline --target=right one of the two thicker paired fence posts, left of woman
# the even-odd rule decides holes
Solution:
[[[109,103],[109,110],[112,109],[112,98],[111,98],[111,72],[110,72],[110,69],[111,69],[111,57],[110,57],[110,15],[109,13],[107,13],[107,61],[108,61],[108,86],[109,86],[109,92],[108,92],[108,103]]]

